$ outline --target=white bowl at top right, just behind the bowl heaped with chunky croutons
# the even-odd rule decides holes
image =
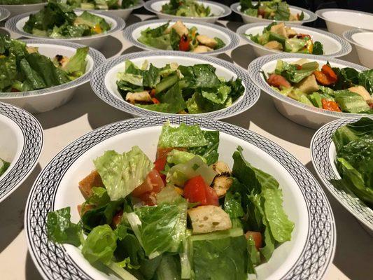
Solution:
[[[256,3],[257,2],[253,2],[253,4],[256,4]],[[238,13],[239,15],[241,15],[242,20],[244,20],[245,23],[268,22],[268,25],[269,25],[269,23],[275,21],[275,20],[268,20],[266,18],[253,17],[252,15],[246,15],[246,13],[241,12],[240,3],[234,3],[230,6],[230,8],[231,8],[231,10],[234,11],[234,13]],[[312,13],[310,10],[306,10],[304,8],[299,8],[299,7],[290,6],[290,5],[289,5],[289,9],[290,9],[290,13],[295,14],[295,15],[297,15],[298,13],[301,14],[303,12],[304,13],[304,19],[303,20],[297,20],[297,21],[294,21],[294,20],[283,21],[283,20],[281,20],[281,22],[285,22],[286,25],[288,25],[288,23],[291,23],[293,25],[303,25],[305,22],[314,22],[317,19],[317,16],[314,13]]]

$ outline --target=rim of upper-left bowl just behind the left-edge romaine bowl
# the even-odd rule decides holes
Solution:
[[[74,12],[79,12],[79,13],[82,12],[83,13],[83,10],[74,10]],[[123,20],[122,18],[120,18],[116,15],[108,15],[108,14],[104,14],[104,13],[94,12],[92,14],[97,15],[99,17],[104,16],[106,18],[111,18],[111,20],[116,22],[117,25],[115,27],[111,27],[111,29],[109,29],[104,34],[95,34],[95,35],[90,35],[90,36],[73,37],[73,38],[50,38],[50,37],[46,37],[46,36],[35,36],[34,34],[29,34],[26,31],[23,31],[23,30],[20,30],[20,29],[17,28],[17,23],[20,20],[23,20],[24,18],[27,18],[29,15],[34,14],[34,13],[37,13],[37,11],[31,11],[31,12],[27,12],[27,13],[21,13],[20,15],[15,15],[14,17],[8,19],[5,22],[6,29],[8,29],[9,31],[12,31],[15,34],[18,34],[20,36],[24,36],[26,38],[43,39],[45,41],[58,41],[58,42],[80,41],[81,43],[85,43],[84,42],[85,40],[98,39],[98,38],[103,38],[103,37],[112,35],[115,32],[122,30],[126,26],[125,20]]]

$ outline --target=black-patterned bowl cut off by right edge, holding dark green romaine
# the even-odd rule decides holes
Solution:
[[[370,118],[373,119],[373,116],[370,116]],[[335,166],[336,151],[332,135],[339,127],[354,123],[357,120],[360,120],[360,118],[341,118],[321,127],[311,139],[311,159],[316,173],[323,181],[325,187],[347,211],[355,216],[373,234],[373,210],[356,195],[346,193],[344,190],[338,190],[330,183],[332,180],[341,179]]]

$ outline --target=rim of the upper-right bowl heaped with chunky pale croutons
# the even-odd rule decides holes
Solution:
[[[292,53],[292,52],[283,52],[283,51],[280,51],[280,50],[271,50],[269,48],[265,48],[265,46],[251,41],[250,38],[244,36],[244,34],[243,34],[244,31],[246,31],[246,29],[248,29],[248,28],[251,28],[251,27],[263,27],[264,28],[264,27],[267,27],[267,25],[268,25],[267,22],[247,23],[246,25],[241,25],[237,29],[236,34],[239,35],[241,38],[243,38],[250,45],[253,45],[255,48],[261,48],[262,50],[268,50],[268,51],[271,51],[271,52],[274,52],[274,53]],[[337,43],[339,43],[339,46],[341,47],[340,50],[338,50],[337,52],[331,53],[329,55],[320,55],[320,56],[342,57],[344,55],[349,54],[352,50],[352,47],[351,47],[351,45],[348,41],[346,41],[344,38],[342,38],[340,36],[337,36],[335,34],[332,34],[332,33],[328,32],[328,31],[324,31],[324,30],[321,30],[321,29],[316,29],[316,28],[313,28],[313,27],[306,27],[304,25],[294,25],[294,24],[286,24],[286,27],[301,28],[301,29],[306,29],[306,30],[309,30],[309,31],[313,31],[313,32],[318,33],[318,34],[323,34],[325,36],[328,36],[328,37],[334,39],[335,41],[337,41]]]

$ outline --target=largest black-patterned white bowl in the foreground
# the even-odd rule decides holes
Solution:
[[[73,141],[48,163],[31,188],[24,216],[29,252],[43,278],[108,278],[91,267],[78,248],[48,241],[46,216],[49,211],[71,207],[71,219],[78,221],[74,209],[84,199],[77,185],[94,169],[92,160],[104,151],[127,151],[134,145],[154,160],[157,139],[167,120],[172,125],[198,124],[204,130],[218,130],[221,160],[232,166],[232,153],[242,146],[251,164],[279,181],[283,207],[295,228],[291,241],[278,246],[269,262],[257,267],[258,279],[321,279],[332,263],[336,233],[332,209],[316,179],[293,155],[265,137],[228,123],[190,116],[132,118],[106,125]]]

